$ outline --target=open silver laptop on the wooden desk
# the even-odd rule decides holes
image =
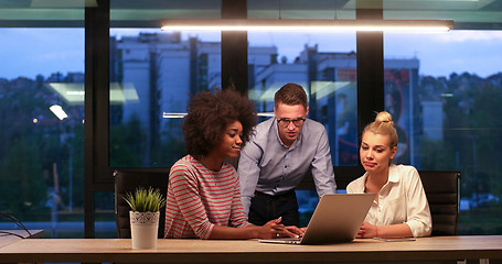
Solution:
[[[357,234],[375,194],[323,195],[302,238],[258,240],[261,243],[327,244],[350,242]]]

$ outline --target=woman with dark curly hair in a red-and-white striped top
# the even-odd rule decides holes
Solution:
[[[270,239],[302,231],[280,219],[250,224],[241,202],[236,158],[256,125],[253,102],[236,91],[201,91],[183,120],[188,155],[169,175],[164,238]]]

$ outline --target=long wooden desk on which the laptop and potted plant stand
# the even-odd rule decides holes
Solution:
[[[126,239],[30,239],[0,249],[0,262],[327,263],[502,258],[502,235],[436,237],[408,242],[354,240],[330,245],[255,240],[159,240],[132,250]]]

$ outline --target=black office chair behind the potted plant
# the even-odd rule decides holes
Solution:
[[[117,235],[119,239],[130,239],[130,207],[124,200],[124,197],[136,191],[138,187],[158,188],[165,198],[168,193],[168,170],[140,172],[138,169],[116,169],[115,178],[115,223],[117,226]],[[159,238],[163,238],[165,226],[165,207],[160,209]]]

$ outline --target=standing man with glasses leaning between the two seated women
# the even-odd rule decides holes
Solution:
[[[242,201],[254,224],[280,217],[285,226],[298,227],[295,188],[308,169],[319,197],[337,191],[330,145],[324,127],[307,119],[309,107],[301,86],[282,86],[274,102],[275,118],[259,123],[241,152]]]

